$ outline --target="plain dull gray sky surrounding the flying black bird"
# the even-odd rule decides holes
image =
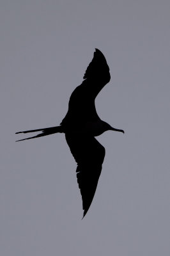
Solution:
[[[170,2],[1,1],[2,256],[169,256]],[[111,82],[98,115],[114,127],[86,218],[63,134],[15,143],[16,131],[58,125],[100,49]],[[24,138],[24,136],[23,136]]]

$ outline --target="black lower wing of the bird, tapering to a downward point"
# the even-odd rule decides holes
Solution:
[[[84,217],[97,189],[105,148],[93,136],[66,133],[66,142],[77,162],[77,182],[81,190]]]

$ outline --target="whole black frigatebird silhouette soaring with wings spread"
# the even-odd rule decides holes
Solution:
[[[65,133],[66,142],[77,162],[77,182],[82,195],[83,218],[95,195],[105,157],[105,148],[96,140],[95,136],[109,130],[124,133],[123,130],[111,127],[97,115],[95,98],[105,84],[109,83],[111,76],[104,54],[98,49],[95,50],[93,60],[84,74],[84,81],[75,88],[70,97],[68,112],[61,124],[55,127],[16,132],[42,131],[36,136],[23,140],[56,132]]]

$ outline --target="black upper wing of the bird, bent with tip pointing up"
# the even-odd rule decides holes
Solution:
[[[95,108],[95,98],[105,84],[109,83],[111,76],[104,54],[96,49],[93,60],[89,63],[83,77],[85,80],[73,91],[68,112],[61,125],[71,122],[96,121],[100,119]]]

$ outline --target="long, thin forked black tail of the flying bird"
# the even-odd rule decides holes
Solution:
[[[15,132],[15,134],[18,134],[18,133],[27,133],[27,132],[39,132],[39,131],[42,131],[42,133],[36,135],[36,136],[33,136],[33,137],[29,137],[29,138],[26,138],[26,139],[22,139],[22,140],[30,140],[30,139],[34,139],[34,138],[38,138],[38,137],[42,137],[42,136],[47,136],[47,135],[50,135],[50,134],[54,134],[54,133],[57,133],[57,132],[63,132],[63,129],[61,126],[54,126],[54,127],[49,127],[49,128],[43,128],[43,129],[36,129],[36,130],[29,130],[29,131],[22,131],[22,132]],[[22,140],[17,140],[17,141],[22,141]]]

